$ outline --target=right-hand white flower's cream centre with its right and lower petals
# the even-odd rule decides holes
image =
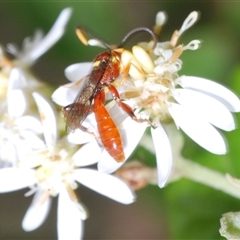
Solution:
[[[128,99],[131,106],[139,109],[156,126],[151,128],[151,134],[160,187],[166,183],[172,166],[167,132],[169,122],[173,120],[177,128],[206,150],[225,154],[226,143],[217,129],[235,129],[231,112],[240,111],[239,98],[226,87],[201,77],[178,74],[182,67],[181,54],[185,50],[198,49],[200,44],[199,40],[193,40],[186,46],[177,45],[178,39],[197,19],[198,13],[192,12],[171,40],[157,43],[151,54],[145,49],[149,49],[152,42],[141,43],[133,47],[132,53],[125,51],[122,54],[123,64],[130,61],[132,66],[121,97]]]

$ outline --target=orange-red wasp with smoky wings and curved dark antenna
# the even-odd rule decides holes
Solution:
[[[147,119],[138,119],[132,108],[123,103],[120,99],[119,93],[112,83],[122,73],[121,53],[123,51],[120,48],[125,41],[134,33],[145,31],[151,34],[154,43],[156,44],[156,37],[154,33],[148,28],[135,28],[130,31],[122,40],[122,43],[118,48],[111,49],[104,42],[99,41],[109,50],[100,53],[93,59],[93,68],[88,76],[85,77],[84,82],[79,90],[74,102],[65,106],[62,111],[66,121],[67,129],[74,131],[75,129],[81,129],[88,131],[83,125],[83,121],[90,113],[95,114],[97,129],[102,145],[117,162],[123,162],[125,160],[123,142],[120,136],[119,130],[104,106],[105,103],[105,91],[107,88],[116,101],[119,107],[121,107],[132,119],[138,122],[147,121]],[[77,28],[76,33],[79,39],[87,45],[87,41],[82,28]],[[154,45],[155,47],[155,45]],[[153,47],[153,48],[154,48]],[[124,69],[124,76],[127,76],[130,69],[130,64]],[[150,123],[150,122],[149,122]],[[151,123],[150,123],[151,124]]]

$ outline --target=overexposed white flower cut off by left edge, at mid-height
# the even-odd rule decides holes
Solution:
[[[19,73],[11,72],[6,102],[0,109],[0,168],[16,166],[19,158],[44,147],[41,123],[34,111],[27,108],[27,98],[14,81]],[[27,110],[28,115],[24,115]]]

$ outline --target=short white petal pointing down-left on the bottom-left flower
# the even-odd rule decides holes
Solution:
[[[49,213],[52,199],[49,196],[44,198],[44,194],[45,190],[42,189],[36,192],[23,218],[22,227],[27,232],[33,231],[41,226]]]

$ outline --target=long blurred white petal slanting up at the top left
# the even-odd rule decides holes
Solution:
[[[65,26],[71,16],[71,8],[65,8],[59,15],[58,19],[48,32],[48,34],[35,46],[32,51],[28,52],[22,61],[31,64],[51,48],[63,35]]]

